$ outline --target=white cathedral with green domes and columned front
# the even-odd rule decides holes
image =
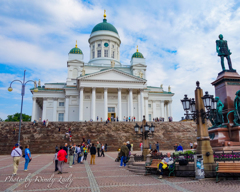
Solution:
[[[172,116],[170,87],[147,86],[146,60],[138,52],[130,65],[120,62],[121,40],[117,29],[107,22],[97,24],[88,39],[90,61],[83,61],[77,47],[68,54],[67,80],[45,83],[33,94],[32,121],[106,121],[107,118],[134,118],[142,121]]]

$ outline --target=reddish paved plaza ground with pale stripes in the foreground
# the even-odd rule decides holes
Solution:
[[[17,176],[11,177],[12,158],[2,155],[0,191],[240,191],[239,180],[215,183],[215,179],[196,181],[192,177],[164,177],[159,180],[157,175],[136,175],[126,168],[119,168],[119,163],[114,161],[116,156],[116,152],[106,152],[105,157],[96,157],[96,165],[90,165],[88,155],[84,164],[75,164],[73,168],[65,164],[64,173],[58,175],[54,172],[53,154],[34,154],[28,172],[23,171],[22,158]]]

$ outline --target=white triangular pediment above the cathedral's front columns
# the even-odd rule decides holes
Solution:
[[[91,81],[128,81],[128,82],[146,82],[145,79],[125,73],[116,69],[108,69],[97,73],[89,74],[79,78],[80,80]]]

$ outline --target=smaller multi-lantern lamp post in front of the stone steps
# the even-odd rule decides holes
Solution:
[[[148,148],[149,148],[148,137],[153,137],[154,131],[155,131],[155,126],[153,125],[153,123],[151,124],[151,126],[149,126],[145,120],[145,115],[144,115],[143,120],[142,120],[142,125],[139,127],[139,125],[136,123],[136,125],[134,126],[134,130],[135,130],[137,137],[142,137],[143,158],[145,161],[147,154],[148,154]]]

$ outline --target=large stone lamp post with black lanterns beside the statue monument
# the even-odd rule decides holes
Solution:
[[[191,116],[197,124],[197,154],[203,155],[204,169],[211,171],[214,163],[213,150],[210,145],[210,138],[205,119],[209,119],[211,113],[216,112],[216,100],[208,92],[203,96],[203,90],[199,87],[200,83],[197,81],[197,88],[195,90],[195,100],[188,99],[185,95],[181,100],[184,111],[191,111]],[[205,112],[205,108],[207,112]]]

